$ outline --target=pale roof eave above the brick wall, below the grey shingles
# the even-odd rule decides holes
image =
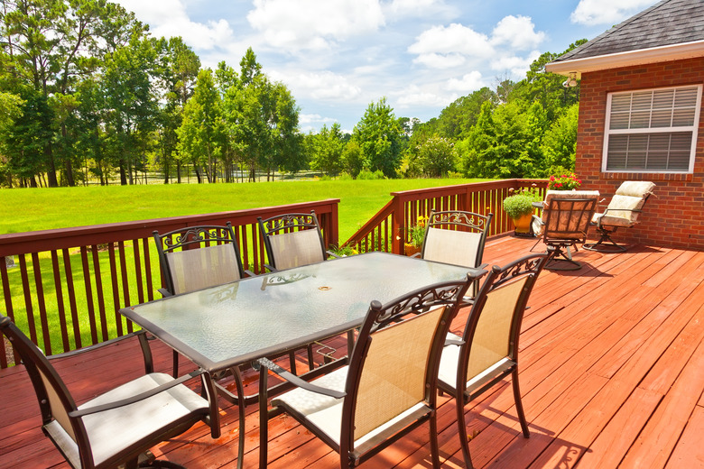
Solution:
[[[704,57],[704,41],[682,42],[680,44],[638,51],[616,52],[585,59],[558,60],[545,65],[545,69],[565,76],[570,75],[570,73],[576,73],[577,78],[581,78],[582,73],[590,71],[620,69],[622,67],[691,59],[693,57]]]

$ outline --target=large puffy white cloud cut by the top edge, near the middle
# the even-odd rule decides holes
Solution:
[[[384,25],[378,0],[255,0],[247,21],[274,47],[323,50]]]

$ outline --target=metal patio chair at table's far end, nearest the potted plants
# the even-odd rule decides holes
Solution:
[[[421,258],[466,267],[479,267],[486,235],[494,214],[487,216],[461,210],[431,211],[425,228]],[[474,294],[478,291],[474,285]]]

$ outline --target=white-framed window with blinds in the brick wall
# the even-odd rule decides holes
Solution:
[[[701,88],[610,93],[602,170],[692,172]]]

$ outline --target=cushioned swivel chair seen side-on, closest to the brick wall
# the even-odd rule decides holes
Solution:
[[[619,227],[630,228],[638,223],[638,216],[648,198],[653,194],[655,184],[646,180],[626,180],[616,189],[616,194],[603,213],[595,214],[592,224],[600,234],[597,243],[584,244],[584,249],[603,253],[621,253],[625,246],[611,239]]]

